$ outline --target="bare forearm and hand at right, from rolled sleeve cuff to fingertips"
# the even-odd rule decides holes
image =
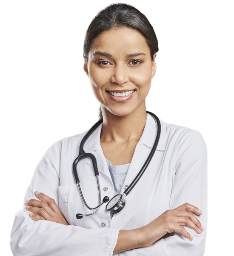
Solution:
[[[176,209],[167,210],[146,226],[134,230],[120,230],[114,254],[131,249],[151,247],[151,245],[167,238],[173,232],[180,233],[186,239],[192,241],[193,237],[183,226],[190,227],[198,234],[201,234],[204,230],[200,221],[192,212],[197,215],[202,214],[197,207],[186,203]],[[153,252],[151,248],[149,251]]]

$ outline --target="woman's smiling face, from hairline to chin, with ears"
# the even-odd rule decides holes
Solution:
[[[154,54],[154,58],[156,54]],[[144,108],[156,64],[146,39],[135,29],[112,29],[94,39],[84,64],[102,111],[124,116]]]

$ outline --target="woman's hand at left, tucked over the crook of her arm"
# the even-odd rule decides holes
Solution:
[[[68,225],[66,219],[60,212],[53,198],[50,198],[49,196],[37,191],[35,192],[35,195],[40,200],[26,200],[26,209],[29,212],[32,212],[29,213],[31,219],[34,221],[53,221],[56,223]]]

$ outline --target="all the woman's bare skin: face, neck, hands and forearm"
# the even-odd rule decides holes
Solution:
[[[88,62],[83,68],[103,113],[100,136],[103,154],[113,165],[130,163],[146,124],[145,99],[156,72],[146,40],[140,32],[129,28],[103,32],[92,42]],[[134,96],[127,102],[115,102],[107,91],[117,90],[134,90]],[[39,200],[26,201],[29,206],[26,209],[33,213],[30,217],[34,221],[68,225],[54,199],[43,193],[35,195]],[[146,226],[120,230],[114,254],[151,246],[172,232],[192,240],[183,226],[202,233],[204,229],[195,216],[201,214],[197,207],[186,203],[167,210]]]

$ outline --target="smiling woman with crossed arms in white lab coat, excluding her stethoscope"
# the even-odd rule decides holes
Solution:
[[[80,218],[94,212],[83,203],[72,169],[88,131],[54,143],[35,169],[23,211],[15,216],[14,255],[204,254],[206,145],[198,131],[162,120],[157,124],[146,113],[157,52],[154,29],[136,7],[113,3],[93,18],[83,46],[84,71],[103,124],[83,147],[97,159],[101,198],[125,192],[161,126],[157,150],[120,212],[102,206]],[[81,160],[75,172],[87,204],[96,207],[91,160]]]

